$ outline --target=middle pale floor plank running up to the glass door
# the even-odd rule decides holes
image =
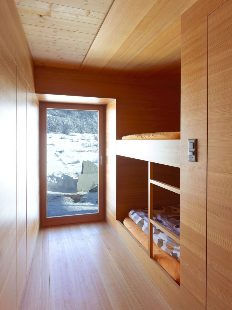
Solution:
[[[79,225],[49,228],[51,310],[112,309]]]

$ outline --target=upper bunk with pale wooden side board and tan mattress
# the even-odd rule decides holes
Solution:
[[[116,141],[116,154],[180,167],[180,132],[128,135]]]

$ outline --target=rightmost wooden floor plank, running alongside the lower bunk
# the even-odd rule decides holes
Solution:
[[[95,233],[96,226],[99,232]],[[89,250],[109,287],[112,307],[116,309],[170,309],[145,272],[108,225],[89,224]],[[86,226],[81,225],[86,232]],[[109,233],[109,230],[111,233]],[[92,233],[91,233],[92,231]],[[111,287],[115,287],[111,290]],[[154,296],[154,298],[151,296]]]

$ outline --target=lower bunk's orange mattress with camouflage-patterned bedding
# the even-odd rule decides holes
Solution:
[[[133,209],[123,225],[148,251],[148,208]],[[153,219],[168,231],[180,236],[179,205],[153,208]],[[180,244],[156,226],[152,226],[152,257],[180,285]]]

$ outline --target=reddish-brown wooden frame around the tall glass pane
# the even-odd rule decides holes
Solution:
[[[73,224],[103,220],[104,215],[104,172],[105,172],[105,113],[104,106],[90,104],[59,104],[43,102],[40,113],[40,218],[41,226]],[[98,140],[98,213],[47,217],[47,109],[70,109],[99,111]]]

